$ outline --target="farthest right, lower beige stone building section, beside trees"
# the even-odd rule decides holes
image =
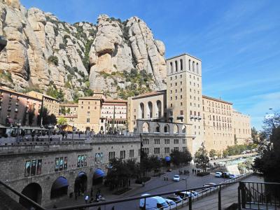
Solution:
[[[232,112],[232,126],[237,144],[251,141],[251,118],[238,111]]]

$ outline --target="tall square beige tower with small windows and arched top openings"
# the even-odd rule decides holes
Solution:
[[[174,123],[190,124],[193,136],[188,148],[194,153],[203,141],[202,62],[192,55],[171,57],[167,62],[167,118]]]

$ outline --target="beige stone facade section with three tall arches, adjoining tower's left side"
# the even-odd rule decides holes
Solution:
[[[127,121],[130,132],[137,127],[138,119],[166,120],[166,91],[150,92],[127,100]]]

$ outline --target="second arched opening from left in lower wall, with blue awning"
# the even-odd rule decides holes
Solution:
[[[62,197],[67,195],[68,192],[68,181],[63,176],[59,176],[54,183],[52,183],[52,188],[50,190],[50,199],[56,197]]]

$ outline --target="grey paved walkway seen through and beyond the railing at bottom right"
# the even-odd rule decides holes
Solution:
[[[263,181],[263,179],[260,178],[259,176],[250,176],[244,179],[243,181],[261,182]],[[238,203],[238,191],[237,191],[238,186],[239,183],[236,183],[227,188],[222,188],[221,190],[222,209],[229,207],[233,203]],[[188,207],[182,208],[182,210],[188,210],[188,209],[189,209]],[[201,200],[196,200],[195,202],[193,202],[192,209],[200,209],[200,210],[218,209],[218,191],[212,195],[203,197]]]

